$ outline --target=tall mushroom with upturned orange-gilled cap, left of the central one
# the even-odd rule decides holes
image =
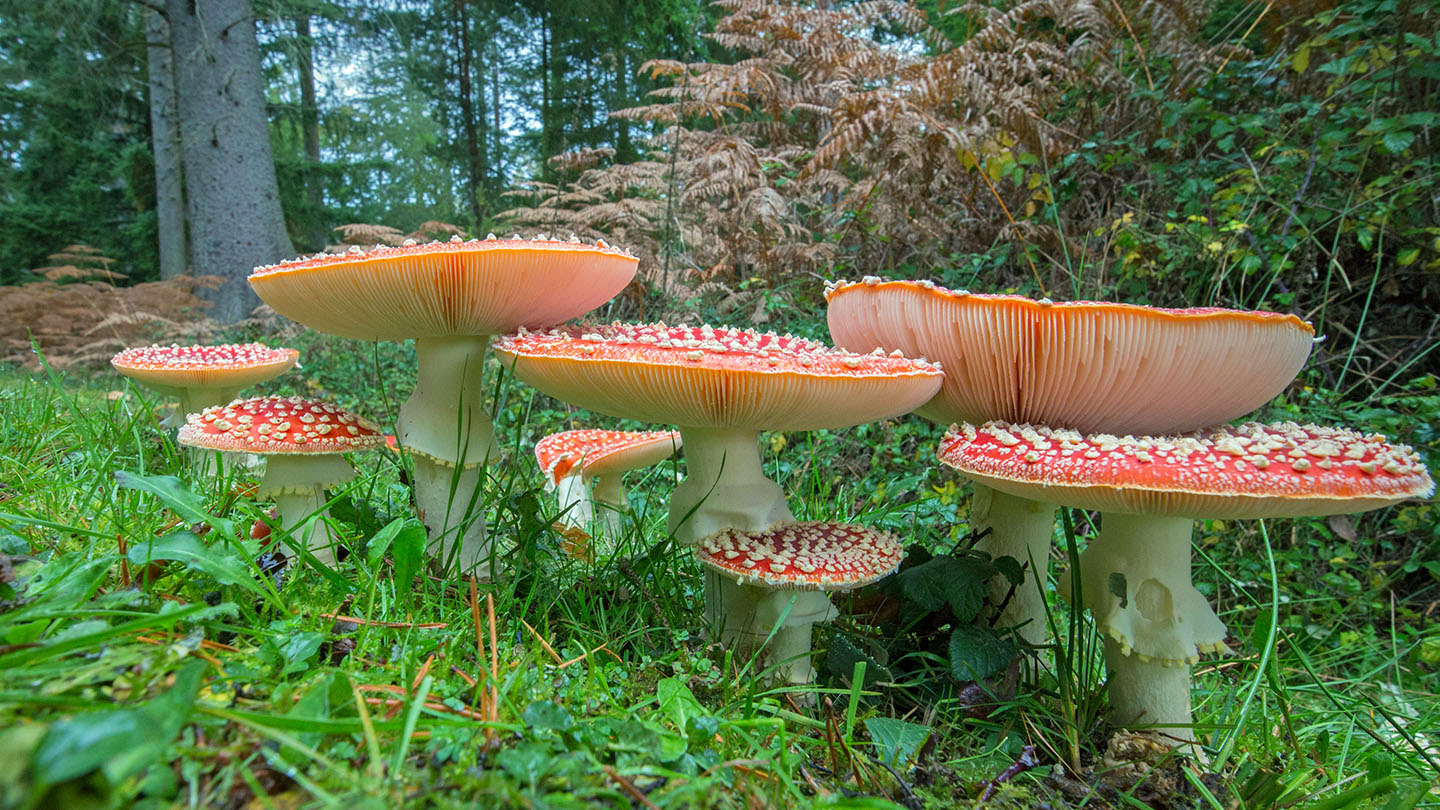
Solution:
[[[492,556],[480,504],[481,466],[495,453],[481,380],[490,336],[585,314],[624,290],[636,264],[605,242],[454,236],[259,267],[251,287],[328,334],[415,339],[419,379],[400,408],[400,442],[431,542],[446,562],[458,546],[461,569],[472,571]]]

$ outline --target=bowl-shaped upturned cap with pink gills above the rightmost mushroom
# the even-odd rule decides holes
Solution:
[[[1035,301],[929,281],[870,277],[825,295],[837,346],[945,365],[939,396],[919,409],[942,424],[1005,419],[1135,435],[1207,428],[1280,393],[1315,339],[1287,314]]]

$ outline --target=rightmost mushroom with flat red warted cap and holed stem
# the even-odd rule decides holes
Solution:
[[[1225,627],[1189,579],[1197,517],[1344,515],[1428,497],[1420,457],[1345,428],[1247,422],[1171,437],[952,427],[940,461],[1017,497],[1102,513],[1081,598],[1106,636],[1120,725],[1191,734],[1189,667]]]

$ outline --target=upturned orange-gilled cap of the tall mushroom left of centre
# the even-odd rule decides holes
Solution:
[[[251,285],[275,311],[327,334],[456,337],[585,314],[624,290],[636,264],[603,242],[455,236],[259,267]]]

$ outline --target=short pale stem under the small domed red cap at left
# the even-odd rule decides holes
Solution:
[[[256,494],[274,497],[279,525],[291,543],[304,546],[321,564],[336,566],[338,539],[325,520],[330,516],[325,487],[354,479],[354,470],[340,454],[274,454],[265,464]]]

